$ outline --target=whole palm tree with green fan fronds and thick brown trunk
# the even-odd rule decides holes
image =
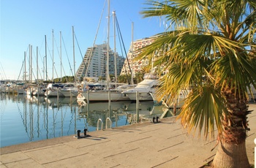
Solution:
[[[256,88],[255,0],[146,1],[143,18],[159,17],[167,30],[138,59],[157,53],[154,66],[167,71],[158,89],[175,98],[191,89],[178,118],[191,133],[214,138],[214,167],[249,167],[246,156],[248,91]]]

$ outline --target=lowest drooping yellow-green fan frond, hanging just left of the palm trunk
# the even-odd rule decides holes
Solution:
[[[199,129],[199,135],[203,131],[214,138],[215,128],[222,132],[222,113],[228,115],[225,110],[225,98],[214,85],[204,85],[202,88],[193,88],[178,118],[181,118],[184,128],[189,132]]]

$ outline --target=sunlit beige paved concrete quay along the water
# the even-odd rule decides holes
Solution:
[[[249,104],[246,152],[255,163],[256,104]],[[5,167],[202,167],[214,158],[216,140],[187,135],[176,118],[159,123],[138,123],[104,131],[90,137],[59,137],[1,148]],[[83,133],[80,133],[83,135]],[[211,149],[213,149],[211,151]]]

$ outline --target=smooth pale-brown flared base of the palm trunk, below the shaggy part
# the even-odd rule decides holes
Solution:
[[[245,141],[238,145],[221,141],[216,156],[214,157],[213,167],[249,167]]]

